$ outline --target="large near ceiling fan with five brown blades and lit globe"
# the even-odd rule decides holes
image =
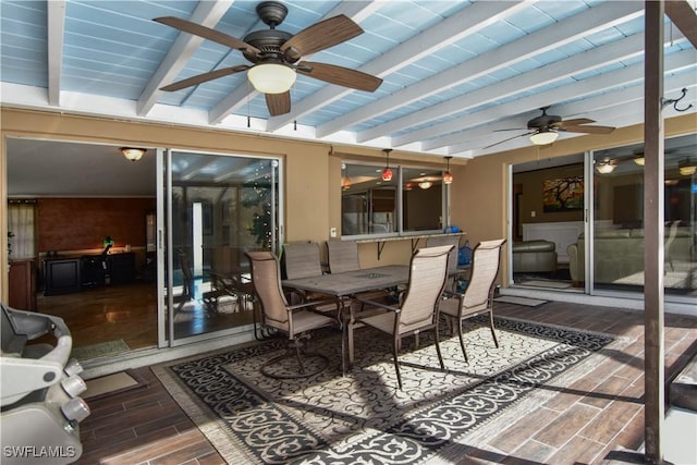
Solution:
[[[247,71],[247,77],[254,87],[265,94],[269,113],[276,117],[291,111],[290,88],[295,83],[296,73],[365,91],[375,91],[382,84],[381,78],[360,71],[328,63],[301,61],[303,56],[316,53],[363,34],[360,26],[347,16],[341,14],[320,21],[293,35],[276,28],[288,14],[288,8],[284,4],[277,1],[265,1],[257,5],[256,11],[259,19],[270,28],[254,30],[247,34],[243,40],[174,16],[152,20],[240,50],[244,58],[252,62],[252,64],[240,64],[198,74],[161,87],[161,89],[175,91]]]

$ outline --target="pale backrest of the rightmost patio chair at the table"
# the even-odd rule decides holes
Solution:
[[[463,296],[463,306],[465,308],[487,304],[493,280],[497,279],[497,274],[499,273],[501,247],[504,243],[504,238],[482,241],[475,247],[472,258],[469,284]]]

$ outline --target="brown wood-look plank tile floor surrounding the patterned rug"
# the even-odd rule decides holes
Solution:
[[[497,303],[496,314],[629,338],[622,351],[557,393],[539,411],[473,445],[458,463],[597,464],[644,441],[644,316],[550,302],[536,308]],[[697,318],[665,316],[667,380],[697,352]],[[220,464],[222,457],[150,369],[147,386],[90,403],[81,425],[78,464]],[[543,388],[541,388],[543,389]],[[694,438],[693,438],[694,439]]]

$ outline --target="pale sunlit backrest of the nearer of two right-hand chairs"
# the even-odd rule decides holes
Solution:
[[[412,256],[409,282],[401,305],[400,333],[430,325],[438,317],[452,248],[452,245],[419,248]]]

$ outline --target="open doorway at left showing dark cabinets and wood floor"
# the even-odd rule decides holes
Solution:
[[[15,308],[63,318],[82,359],[157,346],[155,150],[129,161],[119,146],[8,138],[7,166],[8,201],[34,208],[30,234],[9,225],[10,268],[28,270],[11,301],[33,296]]]

